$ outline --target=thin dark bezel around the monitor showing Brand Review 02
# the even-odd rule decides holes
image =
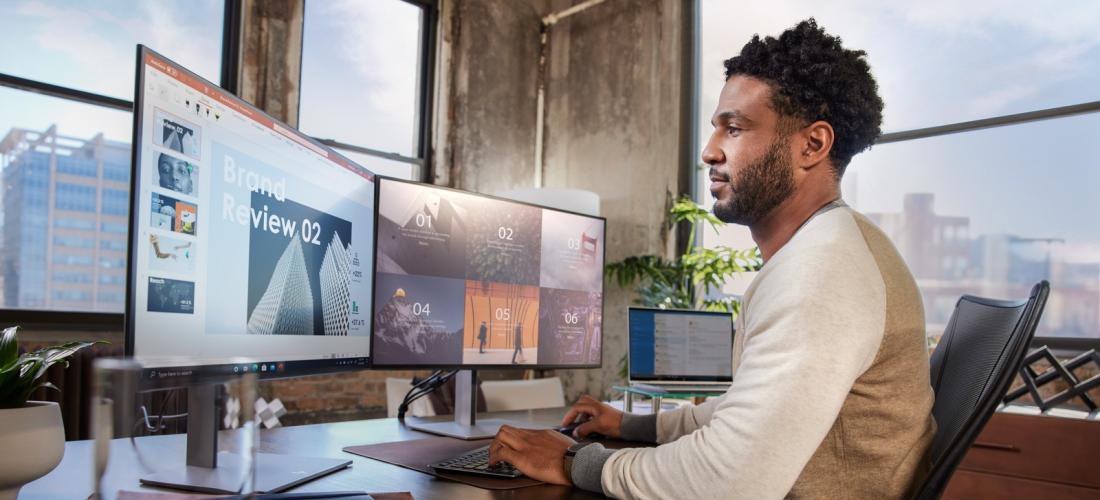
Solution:
[[[138,218],[140,216],[141,209],[141,198],[140,198],[140,186],[141,180],[139,179],[141,174],[141,165],[139,159],[141,158],[142,143],[141,134],[144,123],[142,121],[142,102],[144,101],[144,89],[145,89],[145,60],[146,56],[151,55],[157,59],[165,62],[170,65],[174,69],[186,74],[188,77],[195,78],[202,84],[209,85],[211,88],[216,88],[224,95],[240,104],[242,108],[249,109],[260,115],[272,120],[273,122],[285,126],[287,130],[293,131],[298,137],[310,142],[317,147],[323,148],[331,155],[334,155],[350,165],[362,169],[367,174],[367,180],[377,185],[378,176],[375,175],[371,169],[359,165],[354,160],[348,158],[346,156],[340,154],[339,152],[332,149],[324,144],[319,143],[314,137],[304,134],[298,131],[297,127],[287,124],[286,122],[267,114],[265,111],[252,105],[248,101],[241,99],[233,92],[221,88],[221,86],[212,84],[210,80],[195,74],[194,71],[185,68],[183,65],[176,63],[175,60],[165,57],[164,55],[157,53],[156,51],[143,45],[138,44],[138,65],[135,69],[134,77],[134,108],[133,108],[133,130],[131,136],[131,153],[130,153],[130,216],[129,216],[129,245],[127,245],[127,291],[125,291],[125,310],[123,312],[124,326],[124,337],[125,347],[124,352],[128,357],[134,357],[135,347],[135,327],[134,319],[135,311],[132,295],[135,292],[138,287],[138,273],[136,273],[136,248],[140,238],[136,233]],[[377,186],[374,187],[375,192],[377,192]],[[377,221],[375,221],[377,222]],[[376,232],[373,231],[372,232]],[[373,263],[372,263],[373,268]],[[374,284],[371,284],[372,287]],[[373,295],[373,289],[372,289]],[[373,298],[372,298],[373,301]],[[369,333],[365,338],[366,342],[371,342],[373,332]],[[323,375],[323,374],[336,374],[342,371],[355,371],[370,368],[370,346],[367,347],[367,356],[355,356],[355,357],[343,357],[343,358],[316,358],[316,359],[254,359],[256,364],[283,364],[286,366],[284,371],[260,371],[256,376],[263,380],[273,380],[280,378],[293,378],[302,377],[308,375]],[[196,365],[180,365],[180,366],[156,366],[146,367],[142,369],[142,387],[146,389],[167,389],[167,388],[178,388],[188,387],[196,384],[204,382],[216,382],[227,378],[231,378],[238,375],[234,373],[234,367],[240,367],[239,363],[220,363],[220,364],[196,364]]]

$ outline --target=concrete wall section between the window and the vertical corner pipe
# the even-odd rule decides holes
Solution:
[[[459,0],[444,5],[449,88],[438,113],[437,184],[492,193],[534,179],[539,13],[521,1]]]

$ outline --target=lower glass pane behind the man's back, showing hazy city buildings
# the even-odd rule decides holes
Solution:
[[[845,198],[890,235],[943,333],[963,293],[1050,299],[1036,335],[1100,338],[1100,114],[876,146]]]

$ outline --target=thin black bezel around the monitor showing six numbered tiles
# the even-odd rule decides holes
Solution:
[[[493,196],[493,195],[482,195],[480,192],[464,191],[462,189],[450,188],[450,187],[447,187],[447,186],[437,186],[437,185],[427,184],[427,182],[418,182],[418,181],[415,181],[415,180],[398,179],[398,178],[389,177],[389,176],[376,175],[374,179],[375,179],[374,180],[374,204],[375,204],[375,210],[374,210],[374,242],[375,242],[375,244],[374,244],[374,256],[372,257],[372,263],[371,263],[372,264],[372,267],[371,267],[371,286],[372,287],[377,287],[377,282],[378,282],[377,281],[378,280],[378,276],[377,276],[378,275],[378,243],[377,242],[378,242],[378,216],[380,216],[378,215],[378,212],[380,212],[378,207],[382,203],[382,198],[381,198],[381,196],[382,196],[382,185],[383,185],[383,182],[389,182],[389,181],[400,182],[400,184],[408,184],[408,185],[425,186],[425,187],[429,187],[429,188],[433,188],[433,189],[441,189],[441,190],[446,190],[446,191],[460,192],[460,193],[463,193],[463,195],[470,195],[470,196],[474,196],[474,197],[487,198],[487,199],[491,199],[491,200],[505,201],[505,202],[509,202],[509,203],[516,203],[516,204],[521,204],[521,205],[527,205],[527,207],[534,207],[534,208],[541,209],[541,210],[551,210],[551,211],[554,211],[554,212],[568,213],[568,214],[571,214],[571,215],[579,215],[579,216],[584,216],[584,218],[588,218],[588,219],[598,220],[598,221],[601,221],[604,224],[604,245],[603,245],[603,249],[602,249],[602,252],[603,252],[603,257],[602,258],[603,258],[603,266],[604,266],[604,268],[606,268],[606,266],[607,266],[607,218],[604,218],[604,216],[601,216],[601,215],[592,215],[592,214],[588,214],[588,213],[575,212],[575,211],[571,211],[571,210],[564,210],[564,209],[556,209],[556,208],[551,208],[551,207],[544,207],[544,205],[537,204],[537,203],[530,203],[530,202],[527,202],[527,201],[513,200],[513,199],[509,199],[509,198],[503,198],[503,197],[497,197],[497,196]],[[391,364],[380,364],[380,363],[375,362],[375,357],[374,357],[374,330],[375,330],[374,329],[374,321],[375,321],[375,319],[377,316],[377,314],[375,314],[375,312],[374,312],[374,309],[377,305],[377,300],[378,300],[377,296],[378,295],[376,292],[372,292],[371,293],[371,352],[370,352],[371,353],[371,366],[373,368],[380,368],[380,369],[384,368],[384,369],[468,369],[468,370],[482,370],[482,369],[493,369],[493,370],[591,369],[591,368],[603,367],[603,365],[604,365],[604,351],[605,351],[604,347],[606,345],[605,341],[607,338],[607,331],[604,327],[604,325],[606,324],[605,316],[607,314],[607,308],[606,308],[606,305],[607,305],[607,284],[606,284],[606,277],[604,275],[604,269],[601,269],[600,274],[601,274],[601,286],[600,286],[601,287],[600,288],[600,360],[597,363],[595,363],[595,364],[585,364],[585,365],[561,365],[561,364],[559,364],[559,365],[550,365],[550,364],[543,365],[543,364],[540,364],[540,363],[535,363],[535,364],[530,364],[530,365],[465,365],[465,364],[461,364],[461,363],[459,363],[459,364],[432,363],[432,364],[413,364],[413,365],[410,365],[410,364],[392,364],[392,365]]]

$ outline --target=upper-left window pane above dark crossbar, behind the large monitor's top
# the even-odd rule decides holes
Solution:
[[[223,16],[222,0],[6,2],[0,73],[132,100],[142,43],[217,82]]]

